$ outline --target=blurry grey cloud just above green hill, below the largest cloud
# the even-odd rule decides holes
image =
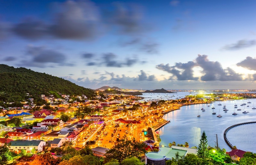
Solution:
[[[19,65],[43,68],[50,66],[47,64],[55,63],[59,66],[74,66],[66,62],[67,59],[63,53],[43,46],[27,46],[26,55],[26,60],[20,61]]]

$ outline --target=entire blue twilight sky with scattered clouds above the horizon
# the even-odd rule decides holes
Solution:
[[[252,0],[0,0],[0,64],[92,89],[255,89],[255,8]]]

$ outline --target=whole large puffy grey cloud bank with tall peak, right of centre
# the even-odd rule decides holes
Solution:
[[[231,68],[223,69],[218,61],[209,61],[207,55],[198,55],[195,61],[189,61],[187,63],[175,63],[174,66],[170,64],[159,64],[157,69],[172,73],[170,80],[198,80],[199,77],[193,76],[193,68],[199,66],[202,68],[200,77],[202,81],[241,81],[242,75],[236,73]]]

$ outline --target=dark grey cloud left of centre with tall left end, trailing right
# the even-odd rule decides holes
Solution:
[[[117,61],[117,55],[106,53],[102,56],[102,64],[106,67],[130,67],[137,63],[137,59],[126,58],[125,61]]]

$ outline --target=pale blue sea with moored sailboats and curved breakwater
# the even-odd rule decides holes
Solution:
[[[205,92],[205,91],[204,91]],[[214,92],[216,93],[216,92]],[[232,93],[232,92],[229,92]],[[255,92],[233,92],[233,93],[255,93]],[[151,100],[170,100],[176,98],[184,98],[186,95],[196,95],[197,92],[177,92],[177,93],[143,93],[140,95],[144,97],[143,101]],[[204,94],[209,94],[205,92]],[[247,102],[251,103],[247,103]],[[222,104],[217,105],[217,104]],[[240,106],[245,103],[245,106]],[[238,108],[234,108],[237,104]],[[210,105],[210,107],[208,107]],[[226,105],[227,111],[223,111],[223,105]],[[249,107],[247,107],[249,105]],[[235,125],[243,122],[256,121],[256,110],[252,110],[252,107],[256,107],[256,99],[244,99],[244,100],[233,100],[233,101],[217,101],[213,104],[196,104],[183,106],[180,110],[175,110],[167,113],[163,116],[165,120],[170,120],[170,123],[163,126],[158,130],[161,138],[160,145],[168,146],[173,141],[176,144],[189,143],[189,147],[197,146],[200,143],[201,134],[205,131],[208,145],[214,147],[216,142],[216,134],[218,137],[218,144],[221,149],[230,151],[230,147],[224,141],[223,133],[226,128],[231,125]],[[213,115],[213,109],[216,115]],[[205,111],[202,112],[201,108]],[[237,109],[242,109],[238,111]],[[243,111],[248,113],[244,114]],[[238,115],[232,115],[233,112]],[[201,117],[197,117],[198,113]],[[220,114],[221,118],[216,117]],[[238,149],[244,151],[251,151],[256,153],[255,148],[255,137],[256,137],[256,123],[240,125],[230,129],[227,132],[227,139],[229,142],[236,146]]]

